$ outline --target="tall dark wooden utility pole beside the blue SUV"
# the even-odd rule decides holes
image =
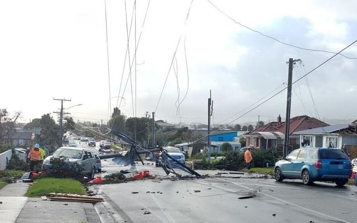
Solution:
[[[288,94],[287,94],[287,107],[285,115],[285,140],[283,148],[283,159],[287,156],[289,149],[289,135],[290,135],[290,112],[291,112],[291,96],[292,96],[292,82],[293,82],[293,65],[299,59],[289,58],[289,71],[288,71]]]

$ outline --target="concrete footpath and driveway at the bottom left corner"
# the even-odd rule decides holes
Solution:
[[[1,223],[101,222],[93,204],[25,197],[29,186],[29,183],[17,182],[0,190]]]

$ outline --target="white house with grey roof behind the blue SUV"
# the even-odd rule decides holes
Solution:
[[[357,145],[356,128],[349,124],[336,124],[295,132],[301,147],[341,148]]]

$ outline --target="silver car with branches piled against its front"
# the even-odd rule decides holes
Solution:
[[[78,163],[82,169],[82,174],[88,174],[94,177],[96,170],[95,156],[92,152],[82,148],[60,147],[51,156],[47,157],[42,164],[42,169],[49,170],[52,168],[50,159],[52,157],[66,157],[69,163]]]

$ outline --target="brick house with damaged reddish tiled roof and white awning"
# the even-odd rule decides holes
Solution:
[[[290,119],[289,127],[289,151],[300,147],[300,136],[297,131],[325,127],[329,124],[307,115],[295,116]],[[280,115],[277,121],[269,122],[253,131],[244,134],[247,146],[260,149],[275,147],[282,151],[285,138],[285,122],[281,121]]]

